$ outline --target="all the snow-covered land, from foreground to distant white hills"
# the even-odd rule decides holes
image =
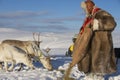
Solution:
[[[34,70],[29,70],[26,66],[22,71],[17,71],[17,66],[13,72],[0,71],[0,80],[63,80],[64,70],[68,68],[71,57],[66,57],[65,52],[72,43],[72,37],[75,33],[48,33],[42,32],[40,34],[41,49],[47,47],[51,48],[49,55],[51,56],[51,63],[54,70],[48,71],[41,63],[34,62],[36,67]],[[114,35],[114,34],[113,34]],[[120,47],[120,43],[116,42],[114,37],[114,45]],[[24,32],[15,29],[0,28],[0,42],[5,39],[18,39],[18,40],[34,40],[32,32]],[[120,39],[120,38],[119,38]],[[118,70],[114,74],[109,74],[101,78],[99,76],[86,76],[83,72],[78,71],[75,66],[70,74],[70,77],[75,80],[120,80],[120,60],[118,62]]]

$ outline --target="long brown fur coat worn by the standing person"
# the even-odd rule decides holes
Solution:
[[[80,36],[78,36],[74,46],[72,64],[77,64],[78,69],[85,73],[113,73],[116,71],[116,63],[111,33],[116,27],[116,22],[112,15],[104,10],[98,11],[94,15],[94,19],[99,22],[98,30],[88,31],[87,34],[91,35],[86,36],[86,39],[89,40],[86,42],[82,40],[80,43]],[[83,35],[87,34],[83,33]],[[83,45],[81,45],[82,43]],[[81,52],[80,47],[86,49],[82,48]]]

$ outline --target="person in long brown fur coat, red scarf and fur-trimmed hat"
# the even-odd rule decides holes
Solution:
[[[97,8],[93,1],[81,3],[85,21],[74,45],[70,67],[75,64],[85,73],[105,75],[116,71],[112,31],[116,22],[111,14]]]

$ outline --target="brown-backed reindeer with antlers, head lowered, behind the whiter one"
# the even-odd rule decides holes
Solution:
[[[39,40],[40,34],[38,35],[38,41],[35,39],[34,36],[35,34],[33,34],[34,41],[4,40],[2,41],[2,43],[17,46],[23,49],[26,53],[28,53],[28,55],[31,58],[39,59],[46,69],[52,70],[52,65],[50,63],[50,57],[46,57],[40,50],[40,43],[42,42]],[[21,66],[20,66],[20,69],[22,68]]]

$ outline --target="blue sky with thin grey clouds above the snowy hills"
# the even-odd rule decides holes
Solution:
[[[84,0],[0,0],[0,28],[27,31],[79,31]],[[120,0],[94,0],[115,17],[120,27]],[[120,30],[120,29],[119,29]]]

